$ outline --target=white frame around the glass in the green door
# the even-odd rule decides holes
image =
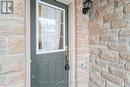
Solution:
[[[58,49],[58,50],[52,50],[52,51],[40,51],[39,50],[39,44],[38,44],[38,37],[39,37],[39,24],[38,24],[38,6],[39,6],[39,4],[42,4],[42,5],[46,5],[46,6],[50,6],[50,7],[52,7],[52,8],[55,8],[55,9],[58,9],[58,10],[61,10],[61,11],[63,11],[63,49]],[[40,0],[36,0],[36,54],[38,55],[38,54],[46,54],[46,53],[55,53],[55,52],[62,52],[62,51],[65,51],[66,50],[66,46],[65,46],[65,43],[66,43],[66,41],[65,41],[65,23],[66,23],[66,20],[65,20],[65,9],[62,9],[62,8],[60,8],[60,7],[57,7],[57,6],[54,6],[54,5],[51,5],[51,4],[48,4],[48,3],[46,3],[46,2],[43,2],[43,1],[40,1]]]

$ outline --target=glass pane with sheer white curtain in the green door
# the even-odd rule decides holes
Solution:
[[[38,51],[64,49],[64,11],[39,4],[38,6]]]

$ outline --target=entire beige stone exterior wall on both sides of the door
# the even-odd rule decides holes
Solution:
[[[0,87],[26,87],[25,1],[0,14]],[[75,1],[76,87],[129,87],[130,0],[93,0],[89,16]]]

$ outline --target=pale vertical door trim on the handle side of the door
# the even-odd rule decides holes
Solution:
[[[76,28],[75,28],[75,0],[71,2],[68,6],[68,13],[69,13],[69,64],[70,64],[70,71],[69,71],[69,87],[76,87],[75,86],[75,37],[76,37]]]

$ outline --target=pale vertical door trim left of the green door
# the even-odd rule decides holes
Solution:
[[[30,0],[25,5],[25,29],[26,29],[26,87],[31,87],[31,47],[30,47]]]

